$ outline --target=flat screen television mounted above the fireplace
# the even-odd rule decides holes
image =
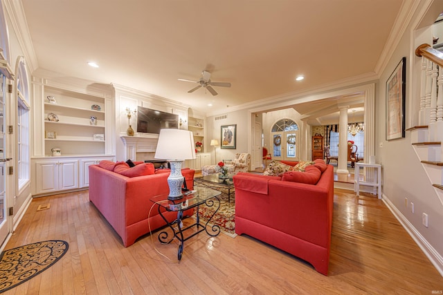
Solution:
[[[160,129],[178,129],[179,115],[138,106],[137,132],[159,134]]]

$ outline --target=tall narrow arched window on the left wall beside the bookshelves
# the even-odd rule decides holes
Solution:
[[[26,68],[19,62],[17,75],[17,176],[19,189],[30,181],[30,106]]]

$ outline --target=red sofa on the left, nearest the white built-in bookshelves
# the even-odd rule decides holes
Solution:
[[[188,189],[193,189],[195,171],[182,169],[181,173]],[[125,247],[150,232],[148,220],[152,231],[165,225],[158,206],[150,210],[154,204],[150,199],[169,193],[169,174],[169,169],[154,169],[152,163],[130,168],[124,162],[101,161],[89,166],[89,200],[116,230]],[[183,212],[183,216],[193,213],[194,210],[189,209]],[[177,212],[165,212],[164,215],[169,221],[177,218]]]

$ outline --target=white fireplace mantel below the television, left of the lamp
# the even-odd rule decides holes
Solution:
[[[159,135],[121,135],[120,139],[125,145],[125,159],[137,160],[137,153],[155,153]]]

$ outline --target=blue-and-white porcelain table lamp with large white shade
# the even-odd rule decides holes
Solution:
[[[170,163],[168,200],[182,198],[183,175],[181,175],[181,163],[184,160],[195,159],[192,132],[181,129],[161,129],[154,158],[165,159]]]

